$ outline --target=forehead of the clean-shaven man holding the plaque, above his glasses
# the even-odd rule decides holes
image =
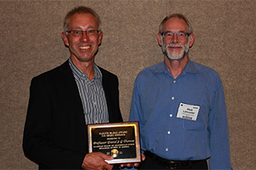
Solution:
[[[88,28],[88,27],[96,28],[96,29],[98,29],[99,27],[96,17],[90,13],[73,14],[67,23],[67,29]]]

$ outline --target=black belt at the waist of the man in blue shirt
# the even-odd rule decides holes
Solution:
[[[162,167],[167,167],[170,169],[176,169],[177,167],[190,167],[194,163],[199,162],[199,161],[206,161],[206,160],[199,160],[199,161],[173,161],[173,160],[167,160],[165,158],[162,158],[160,156],[156,156],[154,153],[146,150],[144,152],[145,156],[148,156],[151,158],[156,164],[159,164]]]

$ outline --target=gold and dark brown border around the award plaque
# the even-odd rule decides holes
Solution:
[[[112,123],[98,123],[98,124],[87,124],[87,132],[88,132],[88,146],[89,153],[92,152],[92,141],[91,141],[91,129],[92,128],[102,128],[102,127],[134,127],[135,133],[135,144],[136,144],[136,157],[135,158],[120,158],[113,159],[111,161],[107,161],[109,164],[120,164],[120,163],[137,163],[142,161],[142,152],[141,152],[141,140],[139,133],[139,122],[112,122]]]

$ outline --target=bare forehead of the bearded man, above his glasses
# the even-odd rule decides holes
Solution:
[[[166,20],[163,25],[163,31],[189,31],[187,23],[179,18],[171,18]]]

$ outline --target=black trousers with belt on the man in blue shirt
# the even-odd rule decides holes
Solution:
[[[137,169],[205,169],[207,170],[207,160],[200,161],[169,161],[145,151],[145,161]]]

